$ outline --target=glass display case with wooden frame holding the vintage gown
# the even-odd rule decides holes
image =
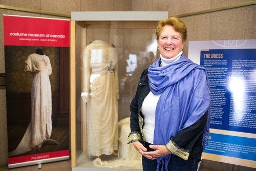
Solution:
[[[72,170],[142,169],[130,102],[159,56],[155,30],[168,12],[71,13]]]

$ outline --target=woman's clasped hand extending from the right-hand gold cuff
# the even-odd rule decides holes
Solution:
[[[153,152],[144,152],[143,154],[146,156],[151,156],[152,158],[158,158],[162,156],[166,156],[170,153],[168,149],[165,147],[165,145],[150,145],[150,148],[155,149]]]

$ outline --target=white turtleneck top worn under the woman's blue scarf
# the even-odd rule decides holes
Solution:
[[[162,66],[166,66],[170,63],[173,63],[179,60],[181,57],[181,54],[182,54],[182,51],[177,56],[170,59],[163,58],[162,55],[160,55]],[[141,106],[141,112],[144,115],[144,126],[143,126],[144,141],[151,144],[154,144],[156,107],[157,107],[157,102],[160,96],[161,94],[154,95],[152,92],[150,92],[144,99]]]

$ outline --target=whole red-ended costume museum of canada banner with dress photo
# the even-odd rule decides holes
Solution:
[[[69,109],[60,106],[69,101],[61,90],[69,89],[70,20],[3,20],[8,168],[68,160]]]

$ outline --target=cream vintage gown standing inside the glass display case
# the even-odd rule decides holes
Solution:
[[[94,40],[82,57],[82,148],[89,157],[117,151],[118,90],[117,49]]]

